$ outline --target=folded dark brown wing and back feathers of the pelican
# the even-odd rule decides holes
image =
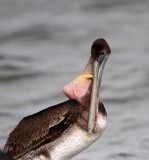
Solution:
[[[18,159],[53,141],[76,122],[83,110],[79,102],[68,100],[23,118],[10,133],[4,152]]]

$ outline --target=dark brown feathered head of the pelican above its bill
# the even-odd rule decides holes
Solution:
[[[99,38],[95,40],[92,44],[91,55],[93,56],[94,59],[96,59],[100,56],[100,54],[103,53],[110,54],[111,49],[105,39]]]

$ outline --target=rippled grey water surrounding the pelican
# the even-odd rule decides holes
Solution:
[[[74,160],[149,159],[148,8],[148,0],[1,0],[0,148],[24,116],[66,100],[63,86],[104,37],[107,128]]]

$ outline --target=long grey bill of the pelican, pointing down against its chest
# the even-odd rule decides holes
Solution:
[[[93,63],[93,85],[91,92],[91,102],[88,121],[88,132],[92,134],[96,127],[96,120],[98,115],[98,105],[100,103],[100,86],[104,66],[108,59],[109,54],[101,54],[98,59]]]

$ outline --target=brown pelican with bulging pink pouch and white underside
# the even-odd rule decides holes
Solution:
[[[104,39],[95,40],[85,70],[64,87],[69,100],[23,118],[4,152],[17,160],[70,160],[96,141],[106,126],[99,94],[110,52]]]

